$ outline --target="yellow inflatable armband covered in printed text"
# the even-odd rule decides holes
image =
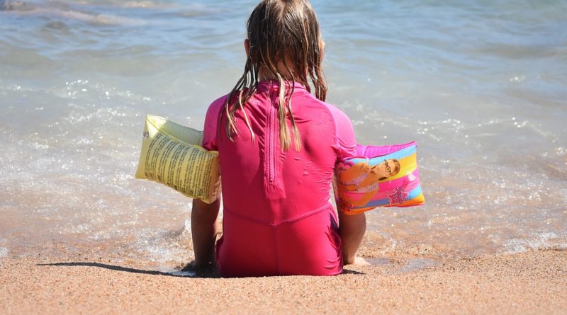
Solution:
[[[136,178],[168,185],[210,203],[220,195],[218,151],[200,147],[203,132],[147,115]]]

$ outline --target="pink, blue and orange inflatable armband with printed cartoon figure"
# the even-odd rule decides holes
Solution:
[[[337,207],[358,214],[375,207],[423,205],[415,142],[393,146],[357,145],[357,155],[335,166]]]

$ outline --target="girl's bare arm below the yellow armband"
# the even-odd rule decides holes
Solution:
[[[191,237],[195,252],[195,268],[215,265],[216,222],[219,206],[219,200],[209,205],[201,200],[193,199]]]

